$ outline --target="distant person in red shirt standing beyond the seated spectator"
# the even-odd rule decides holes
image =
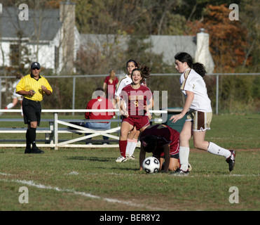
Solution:
[[[118,78],[116,77],[116,71],[110,70],[109,76],[104,79],[103,89],[106,90],[107,98],[114,102],[114,94],[116,91],[116,84],[118,84]]]

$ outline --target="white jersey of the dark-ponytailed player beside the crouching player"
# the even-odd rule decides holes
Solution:
[[[210,113],[212,112],[211,101],[207,96],[207,87],[203,77],[195,70],[188,69],[180,77],[181,90],[186,96],[186,91],[192,91],[194,98],[190,109]]]

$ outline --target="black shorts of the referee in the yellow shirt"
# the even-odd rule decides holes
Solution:
[[[29,124],[30,122],[37,122],[37,126],[40,126],[41,102],[32,101],[27,98],[23,98],[22,113],[23,113],[25,124]]]

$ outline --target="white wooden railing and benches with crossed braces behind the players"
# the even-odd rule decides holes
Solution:
[[[102,144],[79,144],[76,143],[78,141],[83,141],[88,138],[92,138],[95,136],[107,136],[110,139],[119,140],[119,136],[114,135],[114,133],[120,132],[121,129],[121,120],[114,120],[111,119],[109,122],[116,122],[117,126],[111,129],[107,130],[97,130],[97,129],[88,129],[86,127],[81,127],[76,124],[73,124],[73,122],[88,122],[90,120],[59,120],[59,113],[85,113],[85,112],[116,112],[118,113],[118,110],[42,110],[42,113],[53,113],[53,120],[41,120],[42,122],[49,122],[49,127],[38,127],[36,129],[37,133],[46,134],[46,141],[48,143],[37,143],[37,146],[39,148],[55,148],[57,150],[58,148],[118,148],[118,143],[116,144],[108,144],[108,145],[102,145]],[[163,115],[167,114],[167,110],[150,110],[151,113],[156,113],[157,115]],[[0,113],[21,113],[21,110],[0,110]],[[23,119],[3,119],[0,117],[0,122],[22,122]],[[108,120],[106,120],[108,121]],[[91,122],[95,122],[95,120],[91,120]],[[156,120],[153,120],[153,122],[163,122],[161,118],[156,118]],[[60,125],[65,126],[60,127]],[[74,129],[69,129],[68,127],[73,127]],[[25,124],[25,127],[21,128],[14,128],[14,127],[0,127],[0,133],[3,134],[25,134],[27,131],[27,125]],[[59,141],[59,134],[71,134],[71,133],[81,133],[81,134],[88,134],[87,136],[80,136],[76,139],[70,139],[67,141]],[[6,140],[8,141],[8,139]],[[26,143],[0,143],[1,147],[25,147]],[[139,143],[138,143],[139,146]]]

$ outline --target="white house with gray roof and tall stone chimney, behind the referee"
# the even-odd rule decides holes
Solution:
[[[39,61],[44,68],[55,72],[73,70],[80,42],[75,26],[75,4],[61,3],[60,10],[29,8],[29,20],[19,19],[19,8],[1,9],[0,66],[22,63],[18,62],[19,53],[23,51],[24,56],[27,51],[29,60]],[[29,63],[25,67],[29,68]]]

